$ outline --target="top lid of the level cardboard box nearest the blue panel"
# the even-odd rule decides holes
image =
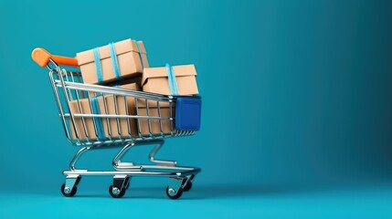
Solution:
[[[180,76],[196,76],[195,65],[173,66],[173,73],[175,77]],[[142,76],[142,86],[146,83],[148,78],[162,78],[167,77],[167,70],[165,67],[158,68],[144,68]]]

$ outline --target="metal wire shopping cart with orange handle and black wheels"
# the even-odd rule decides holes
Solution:
[[[114,198],[125,194],[132,176],[168,177],[166,194],[171,199],[177,199],[191,189],[199,168],[177,166],[174,161],[157,160],[154,156],[164,145],[165,138],[196,133],[200,125],[200,97],[165,96],[83,84],[75,58],[53,56],[43,48],[36,48],[32,58],[40,67],[48,68],[65,134],[73,145],[81,147],[69,163],[69,171],[63,172],[66,181],[61,186],[61,193],[64,196],[74,196],[81,176],[85,175],[112,176],[109,193]],[[67,66],[68,70],[60,66]],[[75,69],[69,70],[72,68]],[[98,113],[94,110],[97,102],[101,104]],[[134,113],[127,109],[129,102],[134,104]],[[189,113],[192,116],[189,117]],[[131,148],[146,144],[156,145],[149,155],[153,164],[122,162]],[[114,171],[75,167],[86,151],[115,147],[122,149],[112,160]]]

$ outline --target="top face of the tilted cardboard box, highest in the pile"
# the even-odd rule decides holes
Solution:
[[[116,54],[121,55],[126,52],[137,52],[137,46],[136,44],[132,41],[132,39],[125,39],[120,42],[114,43],[114,47],[116,49]],[[142,48],[141,48],[142,49]],[[145,48],[143,47],[145,50]],[[111,57],[111,51],[108,45],[99,47],[100,51],[100,58],[108,58]],[[76,54],[76,58],[78,59],[78,64],[79,66],[94,62],[94,52],[93,49],[79,52]]]

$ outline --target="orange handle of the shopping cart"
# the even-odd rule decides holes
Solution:
[[[58,65],[78,67],[78,60],[74,57],[59,57],[50,54],[47,50],[41,47],[37,47],[31,53],[31,57],[38,66],[46,67],[48,65],[49,59],[52,59]]]

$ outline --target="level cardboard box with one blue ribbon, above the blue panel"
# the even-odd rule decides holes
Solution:
[[[173,74],[178,87],[178,95],[198,94],[196,68],[194,65],[173,66]],[[172,95],[168,82],[166,67],[144,68],[142,76],[143,91]]]

